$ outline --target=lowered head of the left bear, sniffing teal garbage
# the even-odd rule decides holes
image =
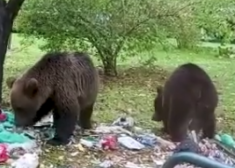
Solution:
[[[15,113],[16,126],[33,125],[34,117],[41,106],[38,81],[35,78],[8,78],[11,89],[10,102]]]

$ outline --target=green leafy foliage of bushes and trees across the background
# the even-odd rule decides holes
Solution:
[[[104,64],[115,63],[122,51],[125,59],[159,43],[166,49],[168,38],[175,38],[179,48],[192,48],[201,38],[201,27],[229,39],[226,19],[232,10],[224,9],[233,1],[225,1],[30,0],[17,25],[46,39],[44,50],[89,50]]]

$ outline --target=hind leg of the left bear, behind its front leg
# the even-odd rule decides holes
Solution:
[[[92,105],[81,110],[78,123],[82,129],[91,129],[92,128],[91,116],[92,116],[92,112],[93,112],[93,107],[94,107],[94,105],[92,104]]]

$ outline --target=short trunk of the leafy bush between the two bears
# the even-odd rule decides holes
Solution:
[[[106,76],[114,77],[117,76],[117,57],[109,56],[102,59],[104,65],[104,74]]]

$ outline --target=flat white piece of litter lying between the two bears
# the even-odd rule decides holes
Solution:
[[[138,141],[129,136],[119,137],[118,142],[128,149],[140,150],[145,147],[143,144],[139,143]]]

